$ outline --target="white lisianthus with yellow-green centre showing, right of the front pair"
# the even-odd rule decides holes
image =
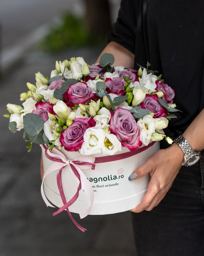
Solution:
[[[104,156],[112,156],[116,152],[121,151],[121,142],[117,139],[115,134],[108,134],[104,131],[104,135],[104,147],[102,148]]]

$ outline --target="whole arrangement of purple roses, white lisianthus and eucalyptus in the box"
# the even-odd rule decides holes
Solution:
[[[135,150],[166,137],[163,129],[178,111],[174,90],[155,71],[114,67],[104,53],[100,63],[87,65],[82,57],[56,61],[50,78],[36,73],[36,85],[21,93],[22,106],[7,104],[9,128],[24,129],[23,138],[82,155],[113,155],[121,147]]]

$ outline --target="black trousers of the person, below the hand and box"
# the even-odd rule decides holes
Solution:
[[[157,207],[132,213],[132,222],[137,256],[204,256],[204,152],[180,169]]]

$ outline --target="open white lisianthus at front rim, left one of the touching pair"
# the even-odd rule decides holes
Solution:
[[[84,133],[84,142],[80,149],[80,153],[85,156],[99,154],[104,147],[104,131],[100,125],[88,128]]]

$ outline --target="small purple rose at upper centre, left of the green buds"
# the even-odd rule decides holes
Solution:
[[[110,93],[118,94],[122,96],[125,94],[125,79],[121,78],[106,78],[105,85],[110,89]]]

